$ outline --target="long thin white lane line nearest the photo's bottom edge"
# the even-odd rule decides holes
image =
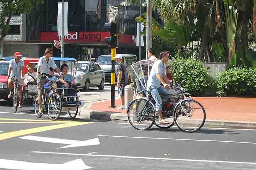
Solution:
[[[97,155],[97,154],[78,154],[78,153],[60,153],[60,152],[38,152],[32,153],[46,153],[46,154],[59,154],[59,155],[79,155],[90,157],[113,157],[113,158],[134,158],[134,159],[155,159],[155,160],[173,160],[173,161],[188,161],[188,162],[210,162],[210,163],[229,163],[229,164],[256,164],[256,162],[232,162],[221,160],[199,160],[199,159],[172,159],[172,158],[154,158],[154,157],[129,157],[121,155]]]

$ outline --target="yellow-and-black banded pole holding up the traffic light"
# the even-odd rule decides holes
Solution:
[[[116,48],[111,48],[111,106],[114,106],[114,97],[115,97],[115,83],[116,83],[116,66],[114,57],[116,56]]]

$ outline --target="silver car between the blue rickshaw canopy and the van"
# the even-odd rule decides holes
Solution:
[[[75,83],[79,89],[88,91],[90,86],[103,90],[105,73],[96,62],[78,61]]]

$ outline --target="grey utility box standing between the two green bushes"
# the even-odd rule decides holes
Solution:
[[[214,79],[217,79],[220,73],[228,69],[228,63],[204,63],[204,68]]]

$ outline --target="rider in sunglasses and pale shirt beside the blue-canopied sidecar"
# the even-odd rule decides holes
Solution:
[[[42,77],[43,74],[48,74],[50,67],[56,70],[60,74],[59,68],[52,60],[53,50],[47,48],[44,51],[44,56],[41,57],[37,64],[37,92],[38,92],[38,103],[39,103],[39,114],[42,114],[42,95],[44,93],[43,85],[46,83],[46,79]]]

